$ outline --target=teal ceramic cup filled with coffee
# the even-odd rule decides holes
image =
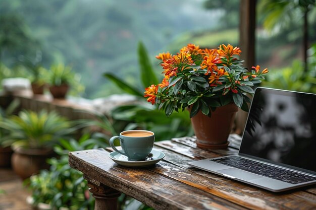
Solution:
[[[118,150],[114,141],[120,139],[122,150]],[[154,143],[154,133],[148,130],[126,130],[120,136],[110,138],[114,151],[128,157],[129,161],[143,161],[149,155]]]

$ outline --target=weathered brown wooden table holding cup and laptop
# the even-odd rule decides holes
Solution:
[[[96,210],[116,209],[121,192],[155,209],[316,209],[315,185],[273,193],[187,165],[236,149],[202,150],[192,137],[156,142],[155,148],[166,156],[148,168],[120,166],[103,149],[71,152],[69,164],[88,180]]]

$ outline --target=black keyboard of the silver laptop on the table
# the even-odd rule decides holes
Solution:
[[[316,178],[312,176],[255,162],[238,156],[224,157],[212,161],[291,184],[316,180]]]

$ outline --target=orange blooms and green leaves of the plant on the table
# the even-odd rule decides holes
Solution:
[[[253,84],[265,79],[268,69],[253,66],[250,71],[239,59],[241,50],[228,44],[218,49],[200,49],[188,44],[176,55],[169,52],[156,56],[161,59],[164,79],[161,84],[145,88],[148,102],[159,105],[167,116],[190,108],[190,117],[201,111],[210,116],[216,107],[235,103],[248,111],[247,93],[253,94]]]

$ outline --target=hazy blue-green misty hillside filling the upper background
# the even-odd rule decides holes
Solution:
[[[178,41],[182,33],[214,28],[216,21],[205,20],[216,20],[216,15],[203,9],[201,1],[189,0],[2,0],[0,16],[18,19],[23,25],[21,33],[34,41],[28,50],[5,45],[1,58],[12,67],[19,54],[32,58],[40,50],[47,68],[53,62],[72,65],[86,86],[84,97],[94,98],[116,91],[101,76],[104,72],[136,82],[132,80],[138,74],[138,41],[154,55]]]

